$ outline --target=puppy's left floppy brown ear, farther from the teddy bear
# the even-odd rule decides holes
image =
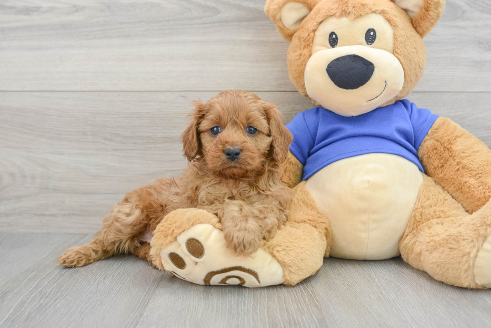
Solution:
[[[192,104],[194,109],[188,115],[191,119],[191,123],[181,135],[183,144],[182,151],[189,162],[193,161],[196,156],[202,155],[198,128],[204,114],[206,114],[205,104],[198,100],[193,101]]]

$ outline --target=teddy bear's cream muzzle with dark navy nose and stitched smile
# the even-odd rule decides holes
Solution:
[[[305,67],[309,97],[342,116],[374,110],[403,85],[404,70],[394,55],[361,45],[318,51]]]

